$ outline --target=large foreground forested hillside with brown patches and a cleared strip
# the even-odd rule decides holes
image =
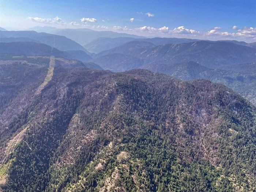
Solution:
[[[255,191],[256,108],[234,91],[39,60],[0,64],[3,191]]]

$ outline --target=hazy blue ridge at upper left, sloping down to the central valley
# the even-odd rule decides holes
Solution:
[[[36,31],[0,31],[1,37],[27,37],[41,42],[42,44],[50,45],[59,50],[83,50],[86,51],[82,45],[60,35],[53,35],[48,33],[37,33]]]

